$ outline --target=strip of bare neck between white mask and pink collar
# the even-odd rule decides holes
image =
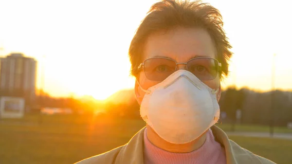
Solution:
[[[173,153],[187,153],[200,148],[206,140],[206,132],[204,132],[196,140],[187,144],[171,144],[161,137],[147,125],[147,138],[156,147],[159,147],[165,151]]]

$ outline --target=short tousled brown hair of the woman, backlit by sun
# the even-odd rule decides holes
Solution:
[[[222,16],[218,9],[200,0],[178,1],[163,0],[153,4],[141,22],[129,47],[131,74],[138,75],[138,66],[142,63],[143,49],[150,34],[176,27],[199,27],[207,30],[215,43],[217,59],[222,65],[220,74],[227,76],[228,60],[232,56],[232,48],[222,28]]]

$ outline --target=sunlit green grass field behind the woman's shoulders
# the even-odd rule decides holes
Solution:
[[[142,120],[88,116],[36,116],[0,120],[0,164],[73,164],[126,144]],[[219,125],[228,130],[228,125]],[[249,128],[248,128],[249,127]],[[266,127],[237,126],[264,131]],[[277,128],[278,132],[291,132]],[[232,136],[238,145],[278,164],[291,164],[292,140]]]

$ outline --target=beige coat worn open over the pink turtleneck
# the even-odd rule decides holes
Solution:
[[[93,156],[76,164],[143,164],[144,129],[140,130],[124,146]],[[228,139],[226,133],[217,126],[211,127],[217,142],[225,147],[227,164],[274,164],[257,156]]]

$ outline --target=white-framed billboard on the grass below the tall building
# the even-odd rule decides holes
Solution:
[[[1,118],[21,118],[24,115],[24,99],[19,97],[0,97]]]

